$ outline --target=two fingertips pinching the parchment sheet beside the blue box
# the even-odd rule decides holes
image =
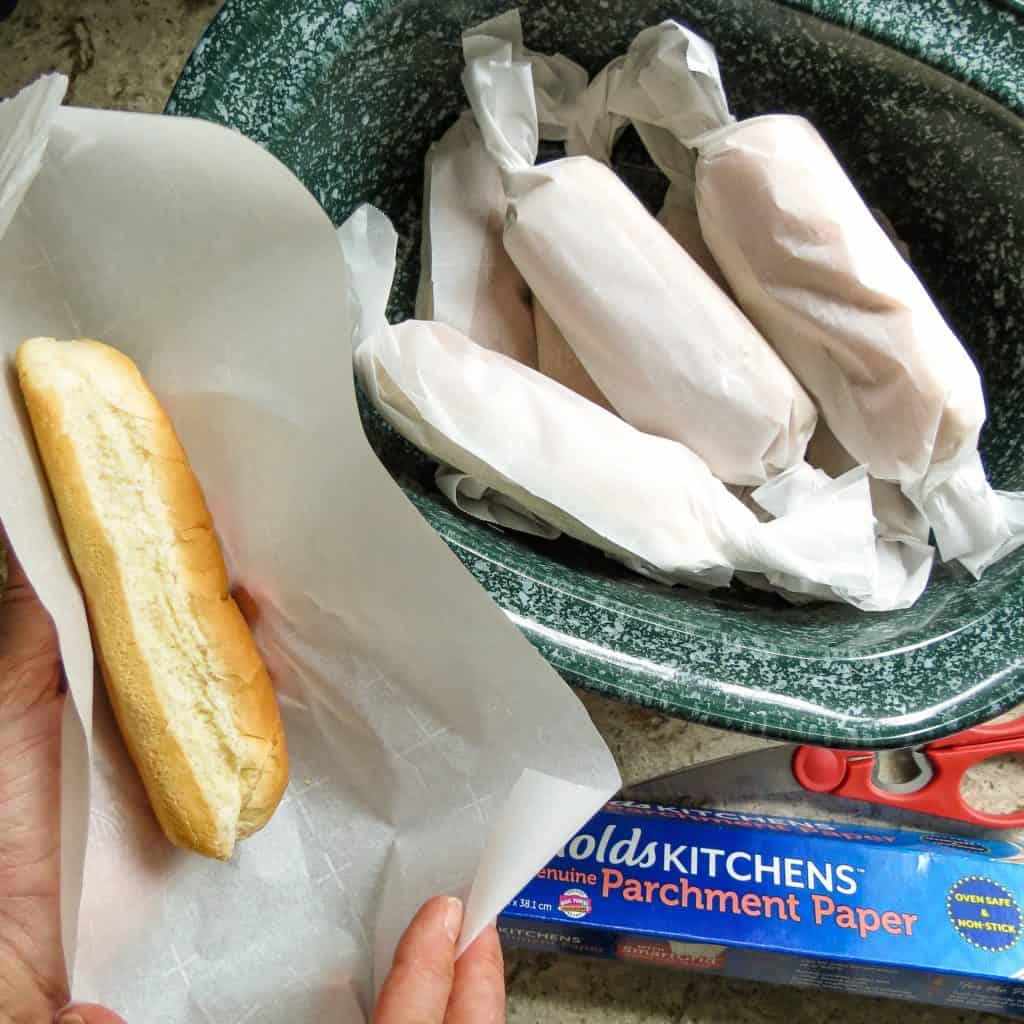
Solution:
[[[395,950],[371,1024],[502,1024],[505,973],[494,926],[458,962],[462,904],[436,896],[413,919]]]

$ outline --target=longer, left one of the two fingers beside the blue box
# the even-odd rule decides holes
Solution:
[[[423,904],[394,952],[372,1024],[443,1024],[461,927],[462,903],[454,897]]]

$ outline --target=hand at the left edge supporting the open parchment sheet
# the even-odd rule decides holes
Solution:
[[[68,1001],[60,944],[60,715],[56,631],[0,527],[0,1024],[48,1021]],[[76,1017],[78,1016],[78,1020]],[[123,1024],[69,1007],[61,1024]]]

